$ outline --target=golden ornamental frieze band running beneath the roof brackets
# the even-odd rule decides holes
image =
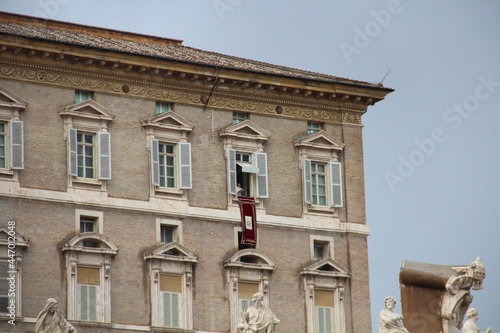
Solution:
[[[204,106],[208,90],[189,85],[173,85],[151,82],[115,74],[102,74],[73,68],[55,68],[45,64],[28,64],[15,60],[0,59],[0,77],[41,84],[91,90],[129,97],[168,100],[174,103]],[[281,96],[262,94],[236,94],[215,89],[208,107],[262,113],[286,118],[298,118],[319,122],[347,123],[361,125],[361,114],[365,109],[346,105],[331,105],[296,101]],[[255,99],[259,99],[256,101]],[[264,100],[264,101],[262,101]],[[314,106],[314,107],[311,107]],[[279,111],[278,111],[279,110]]]

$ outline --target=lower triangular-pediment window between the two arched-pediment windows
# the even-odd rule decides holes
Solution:
[[[151,325],[193,328],[193,267],[196,256],[177,242],[144,254],[148,265]]]

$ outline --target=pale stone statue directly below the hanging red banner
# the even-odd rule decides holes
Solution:
[[[273,333],[274,325],[280,320],[263,304],[262,294],[254,294],[252,301],[253,305],[242,313],[238,333]]]

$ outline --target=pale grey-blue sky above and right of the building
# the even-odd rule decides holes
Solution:
[[[404,260],[486,266],[500,329],[500,1],[0,0],[0,10],[396,89],[363,118],[373,332]],[[497,206],[498,205],[498,206]],[[401,311],[400,304],[396,306]]]

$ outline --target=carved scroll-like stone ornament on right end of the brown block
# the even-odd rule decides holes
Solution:
[[[476,258],[469,266],[453,267],[456,275],[446,282],[446,293],[441,305],[443,333],[456,333],[462,326],[465,313],[472,302],[470,289],[483,289],[486,270],[481,258]]]

